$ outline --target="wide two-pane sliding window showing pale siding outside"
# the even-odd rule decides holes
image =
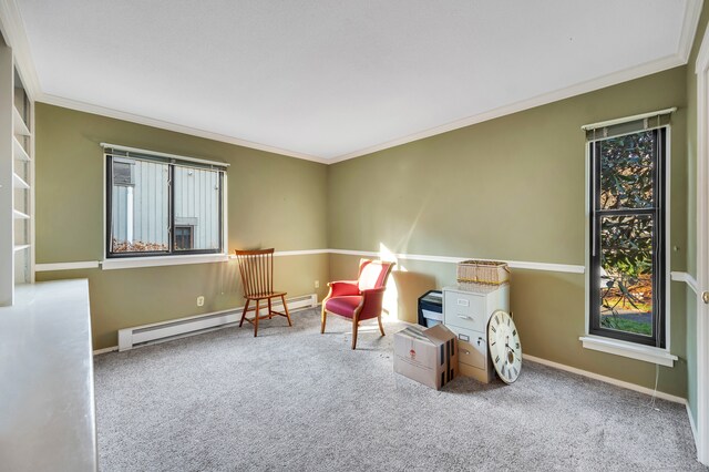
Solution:
[[[104,147],[107,257],[223,253],[224,164]]]

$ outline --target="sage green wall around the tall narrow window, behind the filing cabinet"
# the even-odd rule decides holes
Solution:
[[[670,255],[670,267],[685,270],[684,66],[331,165],[329,246],[584,265],[580,126],[670,106],[678,107],[672,115],[670,170],[670,232],[677,250]],[[356,259],[331,256],[331,278],[352,277]],[[438,287],[455,279],[453,264],[400,264]],[[660,368],[659,389],[685,397],[686,290],[672,283],[670,291],[671,350],[680,359],[674,368]],[[653,388],[654,365],[582,348],[584,297],[584,275],[514,270],[512,310],[525,352]],[[404,308],[400,316],[410,318],[405,307],[411,304],[399,305]]]

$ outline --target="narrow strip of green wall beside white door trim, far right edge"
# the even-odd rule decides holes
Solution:
[[[697,74],[695,64],[709,23],[703,8],[687,62],[687,273],[697,278]],[[697,424],[697,294],[687,288],[687,401]]]

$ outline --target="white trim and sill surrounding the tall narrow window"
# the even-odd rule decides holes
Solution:
[[[633,117],[629,117],[633,119]],[[621,341],[619,339],[605,338],[603,336],[595,336],[588,332],[590,326],[590,153],[588,152],[588,142],[585,143],[586,153],[586,247],[585,247],[585,264],[586,264],[586,284],[584,300],[586,307],[585,336],[578,338],[582,346],[585,349],[593,349],[596,351],[607,352],[616,356],[623,356],[630,359],[644,360],[646,362],[657,363],[660,366],[672,367],[674,361],[678,358],[670,351],[671,346],[671,332],[670,332],[670,254],[671,254],[671,237],[670,225],[671,219],[671,161],[672,161],[672,133],[671,124],[667,124],[667,138],[665,145],[667,151],[665,153],[665,348],[657,348],[653,346],[638,345],[636,342]]]

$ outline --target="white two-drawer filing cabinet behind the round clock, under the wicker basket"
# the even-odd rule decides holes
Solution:
[[[458,337],[459,371],[490,382],[487,322],[496,310],[510,311],[510,286],[465,285],[443,288],[443,324]]]

